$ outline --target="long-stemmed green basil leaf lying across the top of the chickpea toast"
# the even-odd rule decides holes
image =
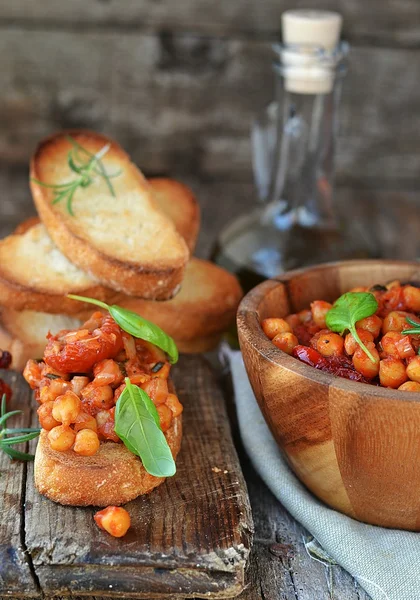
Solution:
[[[108,306],[105,302],[96,300],[95,298],[85,298],[84,296],[75,296],[74,294],[68,294],[68,298],[72,300],[80,300],[88,304],[95,304],[105,310],[109,311],[114,321],[127,333],[139,338],[140,340],[146,340],[154,344],[169,356],[169,361],[174,364],[178,360],[178,348],[174,340],[167,335],[158,325],[155,325],[147,319],[143,319],[137,313],[122,308],[113,304]]]

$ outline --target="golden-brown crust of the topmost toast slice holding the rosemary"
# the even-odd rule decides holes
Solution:
[[[185,265],[189,258],[188,247],[184,239],[175,230],[175,226],[170,219],[165,217],[159,210],[153,197],[153,190],[146,179],[137,167],[130,162],[128,155],[118,144],[91,131],[71,130],[54,134],[39,144],[32,157],[31,178],[57,183],[63,181],[62,163],[71,149],[71,144],[66,139],[66,135],[70,135],[92,153],[98,152],[106,144],[111,145],[106,159],[111,162],[114,169],[116,166],[120,166],[124,170],[124,175],[121,176],[122,181],[120,182],[118,178],[114,180],[116,189],[118,190],[118,186],[121,186],[123,189],[122,195],[126,194],[127,190],[129,194],[133,189],[140,191],[141,193],[138,194],[138,199],[136,197],[135,201],[140,202],[141,198],[141,202],[145,206],[147,205],[148,218],[151,219],[153,215],[157,223],[157,234],[163,235],[165,233],[170,242],[168,241],[164,252],[162,252],[162,247],[159,249],[153,260],[149,256],[145,261],[142,261],[139,255],[136,255],[135,259],[134,256],[127,256],[123,259],[121,252],[117,255],[113,244],[110,243],[105,250],[104,247],[99,248],[96,243],[92,243],[92,238],[86,231],[83,234],[81,233],[81,221],[78,220],[77,216],[71,217],[66,214],[65,209],[60,205],[53,205],[51,189],[40,186],[31,179],[32,196],[38,214],[51,238],[69,260],[90,273],[103,285],[142,298],[156,300],[171,298],[177,293],[182,282]],[[57,159],[57,156],[60,158]],[[59,163],[58,166],[57,163]],[[57,167],[58,175],[55,174],[54,167]],[[53,179],[50,179],[51,176],[53,176]],[[89,188],[85,188],[84,192],[87,202],[92,202],[95,199],[95,194]],[[117,191],[117,197],[118,193]],[[102,196],[106,198],[106,193],[103,191]],[[115,199],[112,198],[112,202],[109,204],[115,205]],[[127,223],[130,223],[130,218],[127,218]],[[112,231],[112,223],[109,224],[109,227]],[[124,232],[112,231],[112,234],[113,240],[118,241],[123,246]]]

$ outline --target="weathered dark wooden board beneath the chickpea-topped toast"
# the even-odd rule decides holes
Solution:
[[[9,410],[24,409],[13,426],[34,426],[27,384],[14,373],[2,376],[14,389]],[[0,594],[230,598],[241,592],[253,525],[223,396],[202,358],[181,357],[173,379],[185,408],[177,474],[126,505],[132,527],[122,539],[96,527],[93,508],[40,496],[32,463],[0,456]]]

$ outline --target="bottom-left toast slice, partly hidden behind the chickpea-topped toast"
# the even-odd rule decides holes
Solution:
[[[80,327],[81,321],[65,315],[3,309],[0,313],[0,349],[12,355],[12,369],[22,371],[30,358],[44,355],[47,333]]]

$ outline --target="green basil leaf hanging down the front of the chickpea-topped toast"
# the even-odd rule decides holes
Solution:
[[[144,468],[155,477],[172,477],[176,465],[168,442],[158,425],[158,414],[144,390],[128,378],[117,400],[115,433],[126,447],[141,458]],[[153,408],[152,406],[153,405]]]

